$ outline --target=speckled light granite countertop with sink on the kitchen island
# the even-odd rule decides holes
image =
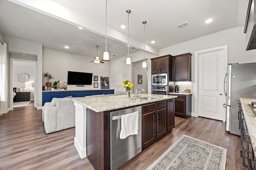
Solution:
[[[93,111],[101,112],[120,109],[123,107],[137,106],[151,102],[158,102],[161,100],[169,100],[178,97],[160,94],[140,94],[140,97],[150,96],[155,98],[150,100],[135,100],[134,96],[135,95],[132,94],[131,98],[127,98],[126,95],[102,96],[95,98],[76,98],[73,99],[73,101]]]

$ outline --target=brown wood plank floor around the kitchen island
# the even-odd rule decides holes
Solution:
[[[183,134],[228,149],[226,170],[242,170],[240,137],[225,130],[225,123],[202,117],[175,117],[175,128],[119,169],[143,170]],[[74,147],[75,128],[46,134],[42,110],[16,107],[0,116],[0,170],[93,170]]]

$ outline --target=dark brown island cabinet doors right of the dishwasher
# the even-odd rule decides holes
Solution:
[[[174,128],[174,100],[142,105],[142,150]]]

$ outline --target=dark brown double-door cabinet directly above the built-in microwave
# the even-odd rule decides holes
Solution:
[[[151,74],[172,74],[172,56],[164,55],[151,59]]]

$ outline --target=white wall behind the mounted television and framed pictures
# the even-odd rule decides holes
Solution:
[[[109,77],[109,80],[112,79],[112,77],[110,77],[110,62],[104,61],[104,63],[96,64],[94,62],[90,63],[91,60],[84,58],[92,57],[43,48],[42,70],[44,72],[49,71],[50,74],[53,74],[54,78],[50,81],[52,83],[58,80],[60,80],[60,82],[67,82],[68,71],[89,72],[92,73],[93,76],[98,76],[98,81],[95,81],[98,82],[98,88],[94,88],[94,80],[92,80],[92,85],[85,85],[82,87],[78,87],[76,85],[68,85],[68,90],[100,89],[100,76]],[[114,78],[116,77],[114,76]],[[46,84],[44,80],[42,86],[45,85]]]

